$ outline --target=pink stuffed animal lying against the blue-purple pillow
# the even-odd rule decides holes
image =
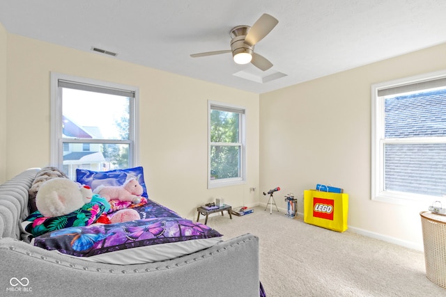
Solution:
[[[141,195],[144,189],[139,182],[134,179],[128,179],[122,186],[98,186],[93,193],[99,194],[103,198],[110,200],[141,202]]]

